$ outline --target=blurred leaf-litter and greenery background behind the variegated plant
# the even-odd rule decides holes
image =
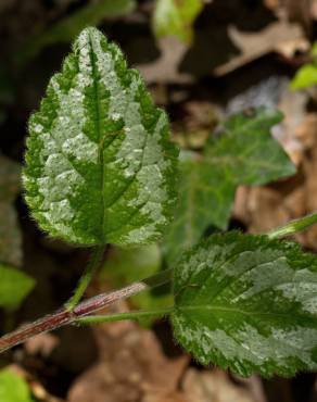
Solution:
[[[119,43],[169,114],[182,150],[174,228],[147,248],[107,247],[92,296],[172,266],[185,246],[215,230],[263,233],[317,210],[316,22],[315,0],[1,0],[1,332],[60,307],[89,257],[89,250],[38,230],[20,178],[28,116],[84,27],[97,25]],[[252,161],[266,158],[270,142],[263,142],[228,183],[228,166],[217,158],[236,152],[224,127],[237,112],[255,124],[262,106],[282,111],[265,136],[272,133],[292,164],[284,160],[279,174],[266,172],[261,183],[246,179]],[[252,127],[258,133],[263,124]],[[252,133],[251,142],[234,133],[241,150],[252,142]],[[211,196],[220,188],[220,197]],[[296,240],[315,252],[316,227]],[[172,302],[163,288],[113,309]],[[317,401],[314,374],[232,378],[185,355],[166,322],[140,324],[63,328],[1,355],[0,401]]]

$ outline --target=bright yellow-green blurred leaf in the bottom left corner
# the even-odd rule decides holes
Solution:
[[[34,401],[27,382],[10,368],[5,368],[0,372],[0,401]]]

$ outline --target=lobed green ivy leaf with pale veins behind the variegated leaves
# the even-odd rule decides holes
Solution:
[[[170,262],[195,244],[208,226],[226,229],[237,187],[261,186],[295,173],[271,127],[280,112],[261,108],[237,114],[205,147],[204,155],[180,164],[179,205],[164,238]]]

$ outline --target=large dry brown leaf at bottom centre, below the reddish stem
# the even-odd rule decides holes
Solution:
[[[174,394],[188,357],[166,357],[153,331],[114,323],[96,327],[96,337],[100,362],[75,381],[69,402],[134,402]]]

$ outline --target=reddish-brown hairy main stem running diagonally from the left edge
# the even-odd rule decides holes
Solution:
[[[63,307],[53,314],[47,315],[34,323],[22,326],[15,331],[0,338],[0,353],[24,342],[28,338],[31,338],[36,335],[60,328],[64,325],[76,323],[79,318],[89,315],[96,311],[99,311],[106,305],[115,303],[118,300],[123,300],[130,296],[137,294],[142,290],[151,289],[170,282],[172,273],[172,269],[162,271],[154,276],[151,276],[138,282],[134,282],[119,290],[101,293],[91,299],[87,299],[77,304],[73,310]],[[143,312],[143,314],[145,312]],[[122,319],[129,319],[129,317],[127,315]]]

